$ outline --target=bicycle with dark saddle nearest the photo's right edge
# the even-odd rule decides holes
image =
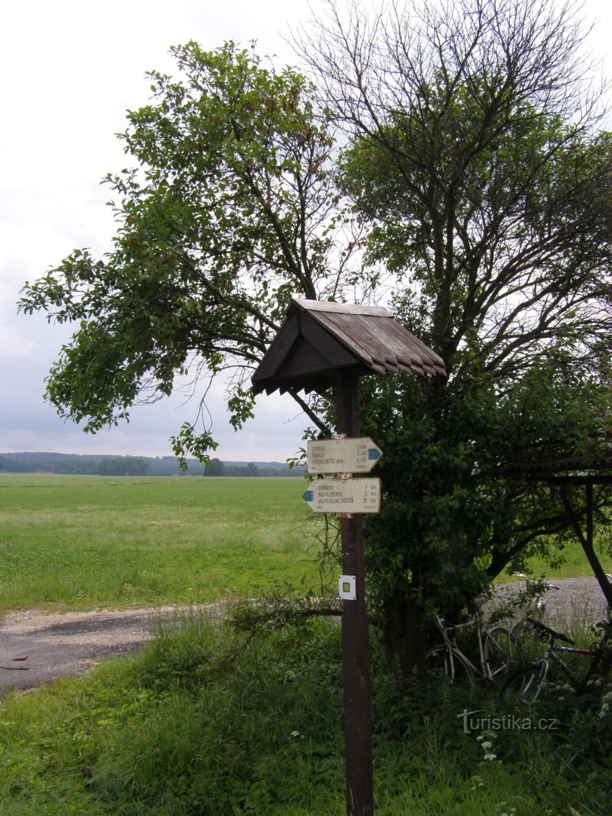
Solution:
[[[548,641],[543,657],[536,663],[526,666],[517,672],[513,672],[512,676],[504,685],[504,690],[512,690],[517,692],[518,696],[525,703],[534,703],[543,691],[546,682],[549,678],[551,665],[554,663],[561,669],[564,674],[570,678],[574,683],[578,694],[584,694],[589,687],[589,681],[594,676],[607,677],[612,668],[612,648],[608,645],[608,641],[612,636],[612,621],[605,620],[596,624],[596,627],[602,628],[603,632],[601,640],[592,643],[588,649],[575,648],[574,641],[562,632],[556,632],[554,629],[541,623],[539,620],[533,618],[528,619],[530,625],[538,633],[538,635]],[[561,646],[557,641],[569,643],[569,646]],[[559,652],[566,654],[583,654],[591,657],[591,665],[584,678],[580,678],[574,669],[565,663],[559,656]]]

